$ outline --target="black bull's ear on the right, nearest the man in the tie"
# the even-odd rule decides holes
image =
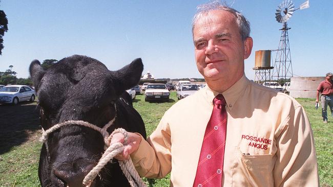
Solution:
[[[115,71],[114,75],[119,85],[118,90],[121,90],[122,92],[123,90],[129,89],[137,85],[140,81],[142,71],[143,64],[141,58],[137,58],[133,60],[130,64],[124,66],[118,71]]]

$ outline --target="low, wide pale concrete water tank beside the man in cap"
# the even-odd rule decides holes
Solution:
[[[317,87],[323,80],[325,77],[292,77],[289,95],[293,98],[316,98]]]

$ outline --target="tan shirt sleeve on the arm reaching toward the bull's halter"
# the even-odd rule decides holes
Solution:
[[[137,151],[131,154],[140,176],[163,178],[171,171],[171,136],[169,123],[163,116],[147,141],[141,136]]]

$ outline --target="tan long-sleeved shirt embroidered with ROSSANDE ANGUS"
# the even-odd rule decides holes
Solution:
[[[131,157],[141,176],[192,186],[218,93],[206,87],[174,104]],[[243,76],[222,93],[227,130],[223,186],[319,186],[314,137],[292,97]]]

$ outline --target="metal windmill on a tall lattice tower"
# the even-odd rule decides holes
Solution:
[[[294,3],[291,0],[283,1],[276,9],[275,18],[283,24],[279,48],[275,58],[275,64],[272,73],[272,79],[281,82],[282,79],[293,77],[292,57],[290,56],[287,20],[293,16],[296,10],[309,8],[309,0],[304,2],[299,8],[295,9]]]

